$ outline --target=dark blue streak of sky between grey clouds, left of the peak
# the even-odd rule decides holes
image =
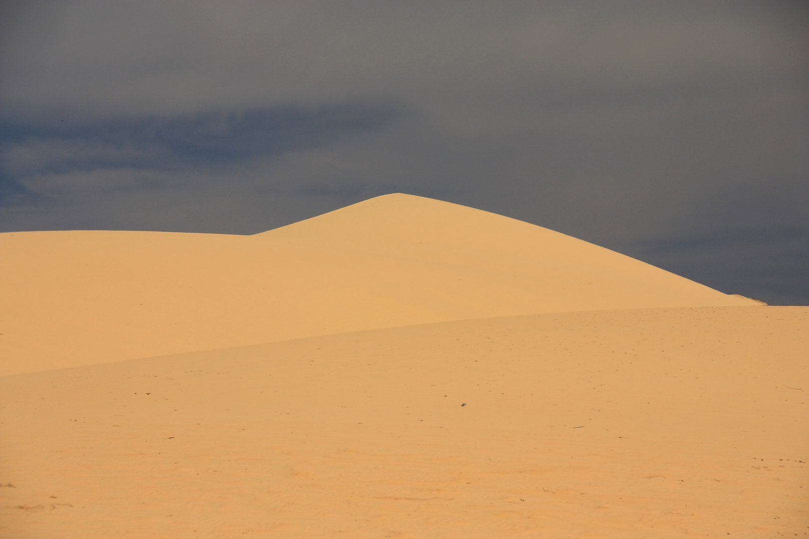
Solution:
[[[394,117],[391,107],[350,104],[312,110],[286,106],[193,116],[113,117],[78,124],[6,121],[0,128],[0,144],[9,174],[176,169],[313,149],[347,133],[375,130]]]

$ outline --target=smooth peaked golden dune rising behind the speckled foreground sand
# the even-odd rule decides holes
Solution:
[[[468,318],[754,303],[401,194],[254,236],[7,233],[0,254],[0,374]]]

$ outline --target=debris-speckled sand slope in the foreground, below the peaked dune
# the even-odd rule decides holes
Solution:
[[[2,377],[2,537],[806,537],[807,330],[605,310]]]

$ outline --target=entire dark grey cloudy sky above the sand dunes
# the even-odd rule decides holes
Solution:
[[[254,234],[405,192],[809,304],[807,2],[0,7],[0,230]]]

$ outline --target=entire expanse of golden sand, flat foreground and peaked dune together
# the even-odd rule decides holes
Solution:
[[[807,537],[809,307],[425,200],[0,234],[0,537]]]

